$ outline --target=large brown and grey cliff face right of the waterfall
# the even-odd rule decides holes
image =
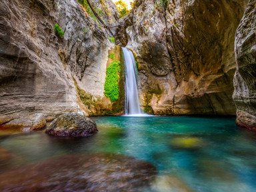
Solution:
[[[137,54],[146,111],[235,114],[233,44],[246,3],[135,1],[116,39]]]

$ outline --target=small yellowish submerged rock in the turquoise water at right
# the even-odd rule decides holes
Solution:
[[[205,141],[199,138],[174,138],[170,144],[179,149],[199,149],[205,145]]]

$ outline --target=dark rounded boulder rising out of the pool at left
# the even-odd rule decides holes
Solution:
[[[99,130],[90,118],[77,113],[67,113],[53,120],[45,132],[59,137],[83,137],[91,136]]]

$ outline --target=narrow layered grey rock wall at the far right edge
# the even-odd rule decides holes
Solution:
[[[237,70],[233,99],[237,124],[256,130],[256,1],[250,0],[235,35]]]

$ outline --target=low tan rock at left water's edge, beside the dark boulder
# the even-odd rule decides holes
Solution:
[[[28,132],[32,130],[41,130],[45,128],[46,120],[45,115],[36,113],[27,117],[11,120],[7,124],[0,126],[1,130],[21,130],[22,132]]]

